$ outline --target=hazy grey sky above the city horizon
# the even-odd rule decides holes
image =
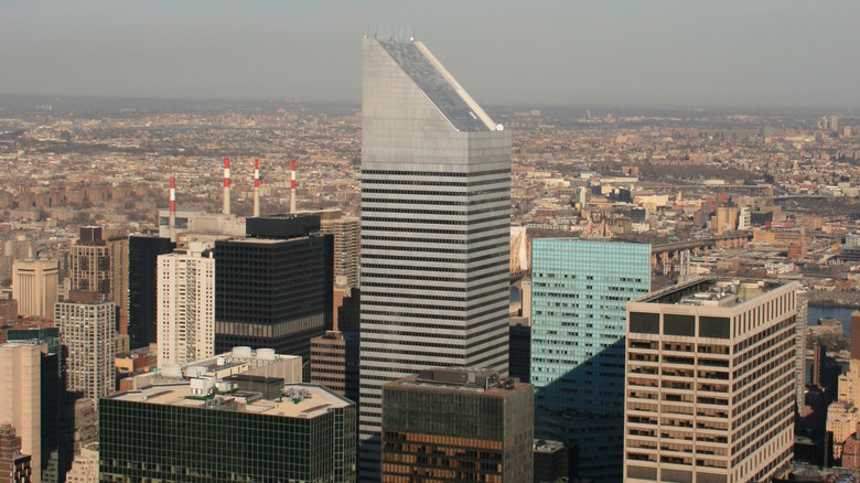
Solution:
[[[860,106],[860,1],[0,0],[0,93],[361,99],[409,28],[479,103]]]

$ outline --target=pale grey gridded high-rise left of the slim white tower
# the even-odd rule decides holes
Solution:
[[[65,353],[66,390],[95,401],[116,388],[116,305],[114,302],[60,302],[54,323]]]

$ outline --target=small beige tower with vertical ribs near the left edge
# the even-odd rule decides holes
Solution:
[[[12,266],[12,298],[18,301],[18,314],[52,316],[60,283],[57,260],[15,260]]]

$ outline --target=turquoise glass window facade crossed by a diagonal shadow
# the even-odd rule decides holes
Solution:
[[[531,250],[537,407],[620,412],[626,303],[651,290],[651,245],[538,238]]]

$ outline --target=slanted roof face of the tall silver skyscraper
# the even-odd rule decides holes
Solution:
[[[388,55],[458,131],[494,131],[496,126],[422,43],[379,41]]]

